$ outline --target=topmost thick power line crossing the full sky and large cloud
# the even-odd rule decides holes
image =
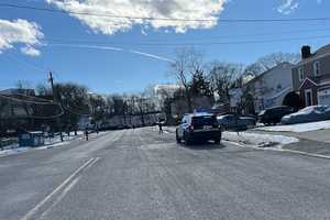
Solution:
[[[180,21],[180,22],[215,22],[218,18],[213,19],[177,19],[177,18],[156,18],[156,16],[129,16],[129,15],[119,15],[113,13],[92,13],[92,12],[78,12],[70,10],[61,10],[61,9],[51,9],[51,8],[41,8],[41,7],[30,7],[30,6],[20,6],[13,3],[0,3],[0,7],[6,8],[16,8],[16,9],[26,9],[34,11],[44,11],[52,13],[69,13],[77,15],[91,15],[91,16],[106,16],[112,19],[128,19],[128,20],[150,20],[150,21]],[[314,22],[314,21],[329,21],[330,18],[299,18],[299,19],[221,19],[221,22],[227,23],[273,23],[273,22]]]

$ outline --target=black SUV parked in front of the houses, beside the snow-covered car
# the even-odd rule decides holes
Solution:
[[[282,118],[286,114],[294,113],[295,110],[292,107],[274,107],[271,109],[263,110],[258,113],[258,121],[266,125],[279,123]]]

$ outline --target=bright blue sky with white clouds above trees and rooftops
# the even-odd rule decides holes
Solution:
[[[193,3],[170,0],[168,6],[161,0],[155,0],[152,6],[146,6],[143,0],[130,0],[134,2],[132,6],[118,8],[111,0],[105,0],[103,6],[92,4],[95,0],[82,0],[80,3],[68,0],[69,6],[63,6],[59,0],[3,2],[65,11],[84,9],[97,13],[106,9],[107,13],[111,10],[111,13],[130,16],[173,18],[177,14],[189,19],[219,19],[207,24],[135,21],[127,25],[123,21],[116,23],[109,18],[0,7],[0,88],[13,87],[18,80],[29,81],[32,86],[46,84],[47,70],[52,69],[56,81],[76,81],[96,92],[135,92],[151,84],[174,81],[168,76],[168,65],[180,45],[168,44],[230,43],[195,47],[204,52],[206,62],[219,59],[249,64],[273,52],[298,53],[302,44],[318,48],[330,42],[329,20],[289,23],[221,21],[324,18],[330,9],[330,2],[324,0],[196,0]],[[187,6],[188,10],[179,6]],[[300,37],[306,38],[239,43]]]

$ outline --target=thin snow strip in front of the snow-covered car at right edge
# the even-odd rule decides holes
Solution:
[[[277,131],[277,132],[308,132],[308,131],[317,131],[330,129],[330,121],[319,121],[319,122],[310,122],[310,123],[299,123],[299,124],[290,124],[290,125],[276,125],[276,127],[263,127],[257,128],[255,130],[258,131]]]

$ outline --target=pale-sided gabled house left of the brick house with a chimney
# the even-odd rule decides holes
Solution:
[[[245,107],[249,109],[245,113],[255,113],[282,106],[293,91],[293,67],[290,63],[278,64],[243,85],[243,88],[232,89],[230,91],[231,109],[239,107],[244,92],[248,92],[253,103],[253,107]]]

